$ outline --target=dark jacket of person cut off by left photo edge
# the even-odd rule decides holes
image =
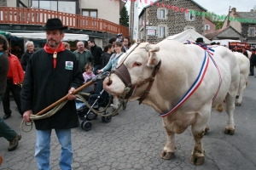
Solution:
[[[6,77],[9,71],[9,58],[5,51],[0,51],[0,95],[6,90]],[[1,101],[0,101],[1,102]]]

